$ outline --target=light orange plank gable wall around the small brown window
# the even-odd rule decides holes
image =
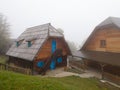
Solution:
[[[106,40],[106,47],[100,47],[100,40]],[[85,49],[120,53],[120,30],[116,28],[97,30]]]

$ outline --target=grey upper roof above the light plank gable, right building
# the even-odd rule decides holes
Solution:
[[[88,37],[88,39],[86,40],[86,42],[83,44],[83,46],[82,46],[82,48],[80,50],[83,50],[86,47],[86,45],[91,40],[92,36],[94,35],[94,33],[97,30],[100,30],[102,28],[107,28],[107,27],[116,27],[116,28],[120,29],[120,18],[117,18],[117,17],[108,17],[103,22],[101,22],[99,25],[97,25],[95,27],[95,29],[93,30],[93,32]]]

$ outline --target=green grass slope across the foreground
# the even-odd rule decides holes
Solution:
[[[111,90],[95,78],[52,78],[0,71],[0,90]],[[114,89],[115,90],[115,89]]]

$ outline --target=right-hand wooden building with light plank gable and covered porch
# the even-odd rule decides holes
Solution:
[[[120,84],[120,18],[109,17],[95,27],[80,51],[87,67],[102,72],[102,79]]]

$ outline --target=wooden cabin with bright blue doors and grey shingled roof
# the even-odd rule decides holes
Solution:
[[[60,55],[55,54],[58,51]],[[33,74],[66,66],[70,54],[63,33],[50,23],[25,30],[7,52],[9,65],[31,69]]]

